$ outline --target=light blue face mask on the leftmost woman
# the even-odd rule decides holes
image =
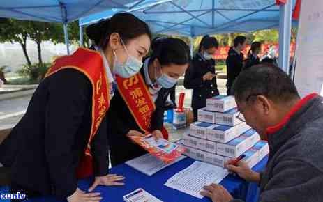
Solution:
[[[123,77],[123,78],[130,78],[133,75],[137,74],[142,68],[142,62],[137,60],[134,56],[130,56],[126,46],[124,45],[123,41],[121,40],[126,53],[128,54],[128,59],[126,63],[120,63],[117,58],[116,52],[113,50],[114,53],[114,65],[113,65],[113,72],[114,74]]]

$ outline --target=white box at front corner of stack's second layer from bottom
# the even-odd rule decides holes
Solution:
[[[216,154],[225,157],[239,157],[239,155],[248,150],[246,147],[247,141],[248,137],[241,135],[228,143],[217,143]]]

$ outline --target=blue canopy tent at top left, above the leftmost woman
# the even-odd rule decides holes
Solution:
[[[112,8],[130,9],[139,0],[6,0],[1,1],[0,17],[18,20],[35,20],[44,22],[61,22],[67,52],[67,24],[80,17]]]

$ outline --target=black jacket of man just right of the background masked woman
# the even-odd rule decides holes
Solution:
[[[227,91],[230,94],[232,84],[243,68],[243,54],[238,54],[233,47],[229,49],[227,60]]]

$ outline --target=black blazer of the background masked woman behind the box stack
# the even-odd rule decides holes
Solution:
[[[203,81],[203,76],[207,72],[216,73],[216,61],[213,59],[205,60],[199,53],[197,53],[188,70],[185,73],[184,87],[186,89],[193,89],[192,108],[200,109],[206,107],[206,99],[219,95],[218,85],[216,84],[216,77],[211,81]]]

